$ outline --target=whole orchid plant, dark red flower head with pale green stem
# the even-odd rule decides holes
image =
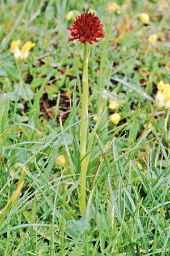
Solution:
[[[82,79],[82,112],[80,115],[80,195],[79,207],[82,215],[86,214],[86,175],[88,167],[87,141],[88,141],[88,59],[92,42],[104,37],[103,24],[93,13],[83,13],[78,16],[73,26],[69,28],[71,38],[84,44],[83,51],[83,79]]]

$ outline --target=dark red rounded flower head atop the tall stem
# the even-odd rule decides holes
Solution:
[[[103,24],[95,14],[82,13],[76,17],[73,27],[70,27],[72,38],[69,41],[78,39],[81,43],[87,41],[92,44],[92,41],[97,42],[96,38],[103,38]]]

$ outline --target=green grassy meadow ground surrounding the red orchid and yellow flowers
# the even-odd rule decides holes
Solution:
[[[106,53],[105,39],[92,45],[94,130],[102,54],[108,99],[92,142],[87,214],[79,213],[83,47],[67,42],[73,20],[66,15],[93,9],[107,33],[108,2],[0,2],[0,255],[169,255],[169,112],[154,103],[158,82],[170,80],[169,1],[167,10],[163,1],[117,1],[121,13],[113,14]],[[148,25],[139,13],[150,15]],[[147,38],[154,33],[152,46]],[[17,39],[36,43],[20,71],[10,51]],[[112,97],[122,104],[118,125],[108,118]]]

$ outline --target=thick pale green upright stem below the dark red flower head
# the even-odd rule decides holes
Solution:
[[[86,146],[88,137],[88,58],[90,44],[84,43],[83,52],[83,94],[82,113],[80,115],[80,199],[79,207],[82,215],[86,214],[86,174],[88,161],[86,159]]]

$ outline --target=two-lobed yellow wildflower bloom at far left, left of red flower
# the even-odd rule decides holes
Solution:
[[[31,41],[28,41],[25,43],[22,47],[22,50],[20,51],[19,45],[21,43],[21,40],[16,40],[11,43],[11,49],[14,52],[14,57],[16,60],[18,59],[26,59],[28,57],[28,53],[32,47],[35,46],[35,43],[32,43]]]

